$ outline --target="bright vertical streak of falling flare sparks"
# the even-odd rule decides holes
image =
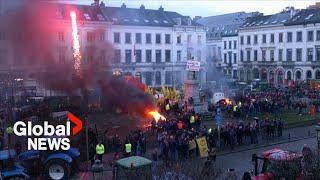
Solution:
[[[71,11],[70,17],[71,17],[71,24],[72,24],[74,69],[76,70],[77,75],[80,75],[81,53],[80,53],[80,41],[79,41],[79,35],[78,35],[77,14],[74,11]]]

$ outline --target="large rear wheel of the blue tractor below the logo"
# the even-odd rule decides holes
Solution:
[[[67,180],[70,176],[70,168],[67,162],[60,159],[50,160],[46,165],[45,175],[47,179]]]

